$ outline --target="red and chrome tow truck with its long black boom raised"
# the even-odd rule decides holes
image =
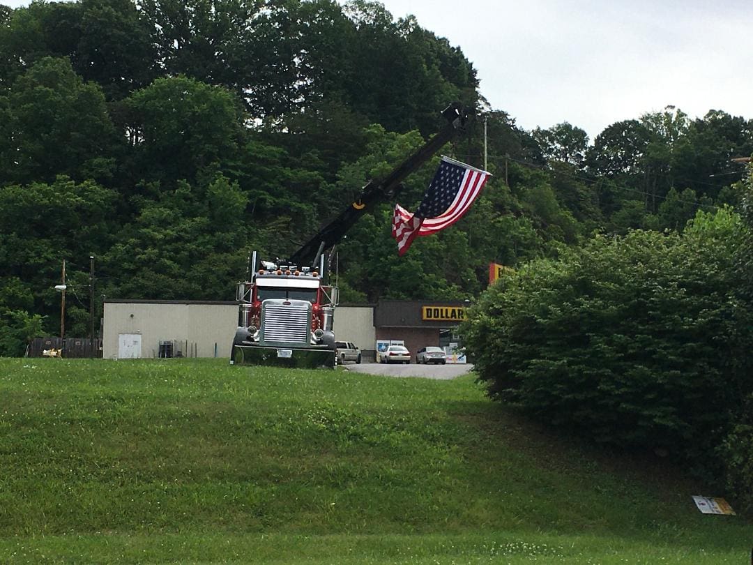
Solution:
[[[442,111],[447,124],[385,179],[372,180],[290,258],[262,259],[253,252],[246,282],[239,282],[238,327],[230,363],[334,368],[333,331],[337,287],[328,283],[328,252],[362,215],[395,197],[401,182],[465,129],[468,113],[459,102]]]

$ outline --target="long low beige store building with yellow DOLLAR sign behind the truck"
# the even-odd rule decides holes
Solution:
[[[453,301],[380,301],[342,304],[334,316],[339,341],[352,341],[373,361],[385,342],[448,351],[459,346],[456,328],[467,304]],[[230,359],[238,322],[235,301],[105,301],[105,359],[224,357]]]

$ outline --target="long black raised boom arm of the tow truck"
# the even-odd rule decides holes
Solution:
[[[398,185],[410,173],[413,173],[419,166],[431,159],[434,153],[439,151],[450,139],[453,139],[458,130],[465,127],[465,123],[468,121],[468,115],[465,114],[459,102],[453,102],[453,104],[447,106],[442,111],[442,115],[449,123],[439,133],[429,139],[413,155],[404,160],[386,179],[381,182],[369,181],[361,189],[361,195],[356,202],[340,212],[337,218],[334,218],[325,225],[318,234],[303,244],[291,256],[291,264],[300,266],[316,264],[319,255],[322,255],[323,251],[331,249],[332,246],[339,242],[361,215],[373,209],[385,197],[394,194]]]

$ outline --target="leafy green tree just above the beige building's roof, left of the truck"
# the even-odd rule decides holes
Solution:
[[[103,258],[109,295],[127,298],[230,300],[245,272],[247,197],[218,175],[198,189],[187,182],[139,199],[136,220],[117,234]]]

